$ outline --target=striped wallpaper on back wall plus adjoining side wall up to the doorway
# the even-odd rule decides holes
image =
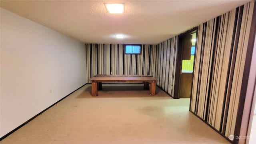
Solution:
[[[85,44],[88,83],[96,74],[151,75],[173,96],[177,40],[142,44],[141,54],[124,54],[124,44]]]

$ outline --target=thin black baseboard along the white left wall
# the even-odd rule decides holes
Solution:
[[[88,83],[86,83],[88,84]],[[85,86],[86,84],[80,86],[79,88],[77,88],[76,90],[82,88],[83,86]],[[73,92],[71,92],[70,94],[74,93],[76,90],[74,90]],[[52,104],[51,106],[49,106],[48,108],[44,109],[42,112],[39,112],[38,114],[36,114],[35,116],[33,116],[32,118],[30,118],[29,120],[27,120],[26,122],[24,122],[23,124],[21,124],[20,126],[18,126],[17,128],[15,128],[14,130],[8,132],[6,135],[2,136],[0,138],[0,141],[3,140],[4,138],[6,138],[7,136],[9,136],[10,134],[12,134],[13,132],[15,132],[16,130],[18,130],[19,128],[21,128],[22,126],[24,126],[25,124],[27,124],[28,122],[30,122],[31,120],[33,120],[34,118],[36,118],[37,116],[39,116],[40,114],[42,114],[43,112],[45,112],[46,110],[48,110],[49,108],[51,108],[52,106],[54,106],[55,104],[57,104],[58,102],[62,101],[64,98],[70,96],[70,94],[64,96],[63,98],[61,98],[60,100],[58,100],[57,102],[55,102],[54,104]]]

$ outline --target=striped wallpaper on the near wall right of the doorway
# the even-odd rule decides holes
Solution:
[[[190,111],[235,134],[254,1],[199,26]]]

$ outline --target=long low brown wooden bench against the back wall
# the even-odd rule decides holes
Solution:
[[[102,83],[108,82],[144,83],[144,89],[149,89],[150,84],[150,95],[156,94],[156,78],[152,76],[96,75],[90,80],[92,82],[92,96],[98,96],[98,90],[102,90]]]

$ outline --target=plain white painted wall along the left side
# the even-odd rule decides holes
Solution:
[[[3,8],[0,21],[2,137],[87,80],[84,43]]]

